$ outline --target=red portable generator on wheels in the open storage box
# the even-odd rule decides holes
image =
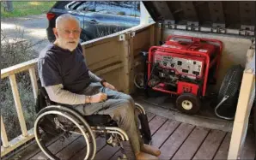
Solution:
[[[161,46],[150,47],[145,83],[155,91],[179,96],[177,109],[196,114],[207,85],[216,83],[221,54],[219,40],[169,36]]]

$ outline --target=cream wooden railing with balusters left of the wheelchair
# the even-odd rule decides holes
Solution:
[[[23,116],[23,110],[21,108],[21,99],[18,92],[18,86],[15,78],[15,74],[21,72],[29,72],[30,80],[34,92],[34,99],[37,97],[38,86],[36,82],[36,74],[35,74],[35,65],[37,64],[37,59],[22,62],[15,66],[4,68],[1,70],[1,79],[9,78],[11,90],[13,93],[13,97],[15,100],[15,109],[17,111],[17,116],[20,122],[21,127],[21,135],[9,141],[8,135],[6,133],[5,125],[3,122],[3,116],[1,115],[1,139],[2,139],[2,146],[1,146],[1,157],[5,156],[10,151],[15,150],[15,148],[23,145],[28,140],[34,138],[34,129],[30,129],[27,131],[26,121]]]

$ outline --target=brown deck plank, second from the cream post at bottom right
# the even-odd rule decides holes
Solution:
[[[212,159],[221,145],[225,134],[225,132],[220,130],[210,130],[210,133],[193,159]]]

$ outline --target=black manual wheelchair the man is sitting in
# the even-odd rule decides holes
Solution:
[[[123,157],[119,159],[135,159],[129,138],[124,130],[107,115],[82,116],[78,111],[58,105],[50,100],[46,89],[39,84],[39,94],[36,104],[37,116],[34,121],[34,136],[40,150],[50,159],[62,159],[48,149],[51,139],[67,139],[72,134],[82,135],[86,153],[84,159],[94,159],[96,154],[96,137],[106,138],[107,145],[120,146]],[[136,105],[136,115],[139,121],[139,130],[145,144],[150,144],[151,133],[145,110],[140,104]]]

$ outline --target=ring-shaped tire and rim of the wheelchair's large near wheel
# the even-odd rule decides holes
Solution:
[[[50,159],[60,159],[59,157],[56,157],[56,155],[54,155],[50,150],[47,149],[46,144],[44,144],[44,140],[40,136],[40,121],[46,118],[46,116],[63,116],[69,121],[72,121],[72,123],[74,123],[76,127],[79,128],[80,133],[82,133],[82,136],[86,142],[86,146],[89,146],[86,147],[86,155],[84,159],[94,159],[96,151],[96,142],[94,138],[94,133],[90,129],[88,123],[82,118],[82,116],[77,114],[76,111],[70,110],[66,107],[54,105],[48,106],[43,110],[40,110],[34,122],[34,135],[36,142],[40,146],[41,151],[43,151],[47,157],[49,157]]]

